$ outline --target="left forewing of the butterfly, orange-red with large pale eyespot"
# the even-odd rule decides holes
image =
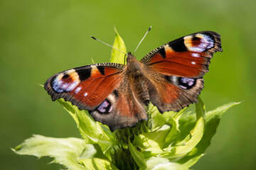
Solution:
[[[124,80],[124,65],[92,64],[53,75],[45,89],[53,101],[64,98],[80,110],[92,110]]]

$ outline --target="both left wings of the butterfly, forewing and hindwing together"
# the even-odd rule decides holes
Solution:
[[[53,101],[64,98],[111,130],[124,128],[147,118],[144,105],[131,95],[125,68],[103,63],[68,69],[50,77],[44,87]]]

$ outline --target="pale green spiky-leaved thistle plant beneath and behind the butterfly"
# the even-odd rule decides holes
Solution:
[[[126,53],[116,31],[114,47]],[[124,62],[124,55],[112,50],[110,62]],[[13,149],[16,154],[52,157],[67,169],[189,169],[210,145],[220,117],[238,103],[227,103],[206,112],[198,97],[196,111],[159,113],[151,103],[148,120],[132,128],[112,132],[64,99],[58,99],[72,116],[82,138],[54,138],[33,135]]]

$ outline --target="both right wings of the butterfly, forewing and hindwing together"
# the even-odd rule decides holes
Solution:
[[[159,111],[179,111],[197,101],[213,53],[222,51],[220,35],[211,31],[178,38],[149,52],[146,66],[150,101]]]

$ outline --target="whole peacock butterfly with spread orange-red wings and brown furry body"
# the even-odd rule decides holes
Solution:
[[[222,52],[220,35],[201,31],[168,42],[140,61],[128,52],[126,65],[100,63],[59,72],[44,87],[53,101],[64,98],[114,131],[147,120],[149,102],[160,113],[196,103],[217,51]]]

